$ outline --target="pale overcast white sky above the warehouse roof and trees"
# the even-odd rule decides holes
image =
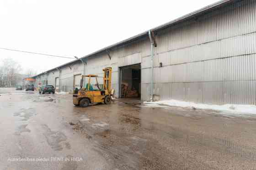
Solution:
[[[83,57],[218,0],[0,0],[0,48]],[[0,49],[22,73],[73,59]]]

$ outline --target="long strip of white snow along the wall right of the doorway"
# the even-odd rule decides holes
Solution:
[[[241,105],[241,104],[224,104],[224,105],[210,105],[203,103],[192,103],[192,102],[183,102],[179,100],[163,100],[157,102],[144,102],[149,107],[158,107],[158,106],[176,106],[182,108],[192,108],[192,109],[212,109],[220,111],[229,111],[237,113],[252,113],[256,114],[255,105]]]

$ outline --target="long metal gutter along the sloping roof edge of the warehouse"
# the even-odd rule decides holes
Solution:
[[[213,3],[213,4],[211,4],[211,5],[208,5],[208,6],[206,6],[206,7],[203,7],[203,8],[201,8],[201,9],[199,9],[199,10],[196,10],[196,11],[194,11],[194,12],[191,12],[191,13],[187,14],[187,15],[181,16],[180,18],[177,18],[177,19],[175,19],[175,20],[173,20],[173,21],[167,22],[167,23],[165,23],[165,24],[163,24],[163,25],[157,26],[157,27],[155,27],[155,28],[153,28],[153,29],[150,29],[150,30],[157,32],[157,31],[159,31],[159,30],[165,29],[165,28],[167,28],[167,27],[169,27],[169,26],[171,26],[171,25],[174,25],[174,24],[176,24],[176,23],[179,23],[179,22],[182,22],[182,21],[186,21],[186,20],[188,20],[188,19],[191,19],[192,17],[195,17],[195,16],[197,16],[197,15],[202,15],[203,13],[205,13],[205,12],[207,12],[207,11],[209,11],[209,10],[213,10],[213,9],[219,8],[219,7],[223,6],[223,5],[231,4],[231,3],[234,3],[234,2],[236,2],[236,1],[240,1],[240,0],[220,0],[220,1],[216,2],[216,3]],[[150,31],[150,30],[149,30],[149,31]],[[137,39],[139,39],[139,38],[141,38],[141,37],[148,36],[148,32],[149,32],[149,31],[144,31],[144,32],[142,32],[142,33],[140,33],[140,34],[138,34],[138,35],[136,35],[136,36],[132,36],[132,37],[130,37],[130,38],[128,38],[128,39],[125,39],[125,40],[123,40],[123,41],[120,41],[120,42],[117,42],[117,43],[115,43],[115,44],[112,44],[111,46],[107,46],[107,47],[105,47],[105,48],[102,48],[102,49],[100,49],[100,50],[98,50],[98,51],[96,51],[96,52],[92,52],[91,54],[88,54],[88,55],[85,55],[84,57],[81,57],[80,59],[86,58],[86,57],[90,57],[90,56],[96,55],[96,54],[101,53],[101,52],[106,52],[106,50],[110,50],[110,49],[112,49],[112,48],[114,48],[114,47],[127,44],[127,43],[129,43],[129,42],[131,42],[131,41],[134,41],[134,40],[137,40]],[[72,62],[67,62],[67,63],[65,63],[65,64],[63,64],[63,65],[60,65],[59,67],[55,67],[55,68],[53,68],[53,69],[50,69],[50,70],[48,70],[47,72],[53,71],[54,69],[57,69],[57,68],[60,68],[60,67],[67,66],[67,65],[69,65],[70,63],[74,63],[74,62],[77,62],[77,60],[74,60],[74,61],[72,61]],[[42,75],[42,74],[43,74],[43,73],[40,73],[40,74],[38,74],[37,76],[40,76],[40,75]]]

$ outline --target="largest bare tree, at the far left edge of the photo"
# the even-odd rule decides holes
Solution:
[[[12,58],[2,60],[1,74],[3,75],[4,83],[10,87],[11,82],[15,83],[17,73],[21,72],[21,65],[15,62]]]

